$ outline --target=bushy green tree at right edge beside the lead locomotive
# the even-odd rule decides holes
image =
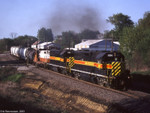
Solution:
[[[131,69],[140,70],[150,67],[150,13],[146,12],[143,19],[135,27],[124,27],[120,38],[120,49]]]

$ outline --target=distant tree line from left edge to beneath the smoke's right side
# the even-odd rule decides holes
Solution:
[[[81,33],[73,31],[62,32],[62,35],[53,36],[51,29],[41,28],[38,30],[37,38],[34,36],[18,36],[16,33],[11,33],[12,38],[3,38],[0,40],[0,51],[8,51],[11,46],[30,47],[35,41],[54,42],[61,48],[74,47],[75,44],[81,42],[82,39],[96,39],[99,31],[84,30]],[[15,38],[16,37],[16,38]]]

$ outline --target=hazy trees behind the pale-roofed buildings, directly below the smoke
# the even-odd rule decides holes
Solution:
[[[38,39],[41,42],[53,41],[61,46],[61,48],[74,47],[75,44],[80,43],[82,39],[96,39],[99,31],[92,31],[85,29],[80,33],[74,31],[65,31],[61,35],[53,36],[51,29],[41,28],[38,30]]]

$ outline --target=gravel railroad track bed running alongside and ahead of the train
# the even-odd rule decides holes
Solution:
[[[8,65],[9,64],[7,64],[7,66]],[[25,63],[20,63],[20,64],[10,64],[9,66],[15,66],[18,68],[21,66],[26,67],[27,65]],[[142,105],[150,105],[149,101],[146,101],[146,104],[145,104],[145,100],[148,100],[147,98],[144,101],[141,101],[141,103],[139,104],[140,106],[137,106],[137,104],[136,104],[136,101],[139,102],[139,100],[141,100],[141,98],[144,98],[146,96],[150,97],[150,94],[144,94],[144,92],[132,91],[132,90],[119,91],[119,90],[103,87],[103,86],[100,86],[100,85],[97,85],[97,84],[94,84],[91,82],[79,80],[79,79],[73,78],[71,76],[63,75],[58,72],[54,72],[54,71],[51,71],[51,70],[48,70],[48,69],[45,69],[42,67],[35,67],[32,64],[29,64],[28,68],[30,68],[28,70],[28,72],[32,72],[35,75],[37,75],[38,77],[40,76],[41,80],[43,80],[43,81],[51,80],[54,82],[58,82],[62,85],[65,84],[65,86],[72,88],[72,90],[84,92],[85,94],[92,95],[92,97],[95,97],[95,98],[98,98],[101,100],[105,100],[105,102],[108,102],[108,103],[109,102],[110,103],[118,103],[117,104],[118,106],[119,105],[122,106],[122,103],[123,104],[125,103],[125,105],[123,105],[123,107],[125,109],[133,108],[135,110],[138,107],[140,108]],[[29,78],[29,79],[40,80],[40,79],[37,79],[34,77]],[[132,102],[135,106],[128,107],[128,105],[132,106],[131,100],[133,100]],[[130,103],[128,104],[128,102],[130,102]]]

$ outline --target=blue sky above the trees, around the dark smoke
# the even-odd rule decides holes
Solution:
[[[90,7],[97,12],[96,16],[101,22],[96,28],[102,32],[113,28],[105,21],[109,16],[123,13],[130,16],[134,22],[138,22],[146,11],[150,11],[149,4],[149,0],[0,0],[0,38],[10,37],[12,32],[18,36],[37,36],[41,27],[52,28],[54,35],[67,30],[79,32],[79,26],[76,26],[75,20],[72,19],[79,19],[76,14],[80,11],[80,14],[85,13],[81,7]],[[57,12],[61,16],[54,17]],[[68,19],[69,17],[72,18]],[[57,22],[51,21],[52,18]],[[61,29],[57,32],[58,26]]]

